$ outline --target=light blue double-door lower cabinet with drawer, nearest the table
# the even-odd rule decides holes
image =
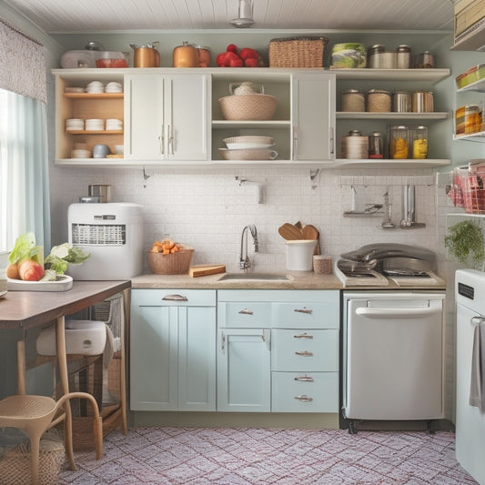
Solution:
[[[216,410],[216,296],[205,291],[132,290],[130,409]]]

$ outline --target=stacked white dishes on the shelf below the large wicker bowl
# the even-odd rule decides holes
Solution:
[[[272,136],[231,136],[224,138],[227,148],[219,148],[225,160],[274,160],[278,152],[272,150]]]

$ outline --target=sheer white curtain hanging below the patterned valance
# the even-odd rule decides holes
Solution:
[[[35,233],[50,248],[45,104],[0,89],[0,251]]]

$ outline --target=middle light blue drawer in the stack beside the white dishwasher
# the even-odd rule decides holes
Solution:
[[[338,330],[272,330],[271,369],[338,371]]]

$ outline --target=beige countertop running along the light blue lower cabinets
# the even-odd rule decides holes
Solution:
[[[346,290],[379,290],[399,289],[402,291],[412,289],[445,289],[439,287],[406,287],[399,288],[392,281],[386,287],[354,286],[344,288],[342,282],[335,275],[317,275],[313,271],[286,271],[278,273],[286,275],[286,280],[228,280],[219,281],[224,274],[206,277],[191,278],[185,275],[140,275],[131,279],[131,288],[195,288],[195,289],[346,289]]]

